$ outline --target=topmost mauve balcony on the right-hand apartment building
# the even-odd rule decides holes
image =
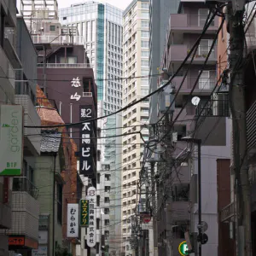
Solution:
[[[169,19],[169,32],[200,33],[207,20],[205,15],[173,14]],[[218,17],[212,21],[207,33],[215,33],[218,30]]]

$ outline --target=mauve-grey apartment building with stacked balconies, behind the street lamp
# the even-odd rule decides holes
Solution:
[[[171,14],[169,16],[166,44],[161,60],[161,70],[164,74],[158,78],[158,86],[166,84],[170,76],[177,71],[177,68],[188,54],[189,49],[191,49],[193,44],[195,44],[195,40],[199,37],[206,22],[207,15],[208,9],[203,3],[181,1],[178,5],[177,14]],[[214,38],[214,33],[217,30],[218,18],[216,17],[202,38],[192,64],[190,66],[184,65],[181,73],[172,80],[172,84],[158,94],[156,114],[154,112],[154,106],[150,105],[152,119],[160,119],[166,113],[168,104],[172,102],[172,96],[169,96],[168,99],[166,97],[172,91],[173,86],[176,89],[179,87],[183,81],[186,69],[189,68],[188,75],[184,79],[183,86],[176,98],[175,108],[174,106],[171,108],[173,113],[170,112],[172,113],[172,119],[175,119],[184,106],[183,111],[173,126],[175,136],[172,137],[172,146],[174,147],[172,162],[175,165],[172,166],[171,174],[163,172],[163,170],[166,170],[165,162],[160,161],[157,163],[156,175],[159,177],[156,184],[158,188],[157,212],[155,212],[157,227],[154,232],[157,232],[159,255],[169,255],[170,248],[172,249],[173,255],[179,255],[177,247],[184,240],[184,232],[186,230],[190,233],[198,231],[198,196],[196,192],[198,177],[197,154],[193,153],[195,156],[194,160],[191,160],[189,157],[191,148],[197,148],[197,146],[181,141],[183,137],[193,135],[195,138],[201,139],[201,154],[204,155],[201,157],[201,166],[202,170],[204,170],[201,174],[202,220],[208,224],[209,228],[206,233],[209,239],[207,244],[203,245],[202,252],[216,255],[218,253],[218,227],[216,225],[218,222],[218,166],[216,160],[221,160],[222,158],[230,159],[230,121],[225,118],[229,115],[225,96],[219,95],[217,93],[218,91],[214,96],[210,96],[217,82],[216,46],[213,48],[207,66],[203,73],[201,73],[199,81],[195,84],[198,73],[201,70],[201,64],[206,59],[212,39]],[[192,96],[189,96],[190,90],[194,85],[195,90]],[[197,105],[192,103],[194,96],[200,98],[200,103]],[[186,105],[184,105],[185,102],[187,102]],[[206,108],[205,105],[211,111],[204,111],[203,108]],[[165,132],[165,121],[160,122],[157,127],[153,129],[154,137],[160,137]],[[214,130],[212,131],[210,127],[214,127]],[[217,137],[218,140],[216,139]],[[162,157],[165,157],[165,155]],[[169,175],[169,178],[166,178],[166,175],[167,177]],[[170,186],[171,192],[168,192],[166,188]],[[166,195],[166,198],[162,195]],[[211,206],[208,203],[209,201],[211,201]],[[166,232],[166,229],[168,232]]]

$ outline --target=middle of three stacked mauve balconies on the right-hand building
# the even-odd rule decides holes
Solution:
[[[206,61],[207,54],[211,47],[208,46],[199,46],[199,49],[197,50],[197,53],[195,54],[194,61],[192,63],[194,64],[203,64],[204,61]],[[189,47],[185,44],[171,44],[168,51],[166,51],[167,55],[167,63],[171,66],[173,63],[180,64],[183,62],[183,60],[186,58],[186,56],[189,53]],[[212,53],[207,61],[208,65],[215,65],[217,63],[217,57],[216,57],[216,46],[213,47]],[[189,58],[191,60],[191,58]],[[189,61],[188,60],[188,61]]]

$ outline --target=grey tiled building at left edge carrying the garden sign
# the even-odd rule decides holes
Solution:
[[[26,31],[24,20],[16,18],[16,1],[2,1],[1,13],[3,15],[0,36],[1,75],[6,79],[2,79],[0,85],[0,108],[12,108],[13,104],[16,105],[15,109],[22,106],[19,108],[20,115],[15,121],[18,125],[18,121],[23,120],[23,124],[19,126],[20,129],[23,128],[22,125],[41,125],[35,108],[36,85],[35,82],[28,81],[37,78],[37,52]],[[22,52],[25,51],[26,55],[23,55]],[[30,67],[27,65],[28,59]],[[26,83],[23,83],[23,80]],[[13,111],[16,111],[15,109]],[[8,255],[10,251],[17,251],[17,249],[23,253],[31,253],[32,249],[38,247],[38,230],[33,229],[38,225],[38,189],[34,185],[34,168],[28,157],[40,154],[40,136],[32,138],[30,137],[32,133],[40,134],[40,130],[25,128],[17,137],[23,143],[20,144],[20,160],[17,159],[17,155],[13,155],[13,160],[18,160],[22,172],[18,173],[15,169],[11,171],[7,168],[5,175],[1,177],[1,191],[4,192],[1,194],[0,206],[1,255]],[[8,150],[9,145],[5,145],[4,142],[1,145],[3,158],[3,152]],[[5,157],[8,158],[6,155]],[[4,159],[1,162],[4,162]],[[8,172],[15,173],[9,177]]]

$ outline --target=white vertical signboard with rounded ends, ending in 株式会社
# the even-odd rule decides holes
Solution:
[[[89,228],[87,230],[88,247],[96,246],[96,188],[90,187],[87,191],[89,201]]]

